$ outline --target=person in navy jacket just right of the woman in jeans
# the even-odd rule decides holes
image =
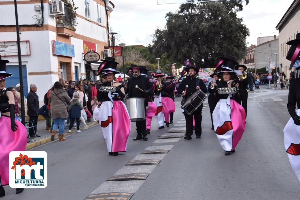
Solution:
[[[74,121],[76,120],[76,128],[77,133],[80,132],[79,125],[80,125],[80,117],[81,117],[81,110],[83,109],[82,105],[78,101],[78,94],[74,93],[72,103],[69,106],[70,107],[70,125],[69,125],[69,133],[71,132],[72,125],[74,124]]]

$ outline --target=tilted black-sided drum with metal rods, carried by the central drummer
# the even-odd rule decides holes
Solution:
[[[189,96],[181,107],[188,115],[193,114],[203,104],[206,94],[200,89]]]

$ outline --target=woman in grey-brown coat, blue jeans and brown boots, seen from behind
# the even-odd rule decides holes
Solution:
[[[51,117],[53,118],[53,127],[51,141],[54,141],[56,130],[59,126],[59,141],[67,140],[64,138],[64,129],[65,129],[65,119],[68,117],[68,103],[70,102],[70,97],[64,86],[61,82],[57,81],[54,83],[54,86],[51,89],[49,95],[49,103],[51,105]],[[66,108],[66,109],[63,109]]]

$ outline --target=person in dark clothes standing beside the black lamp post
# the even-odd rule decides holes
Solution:
[[[35,84],[30,85],[30,91],[27,95],[27,103],[28,103],[28,115],[29,115],[29,136],[30,137],[41,137],[36,134],[37,127],[37,118],[39,115],[39,101],[38,95],[36,94],[37,87]]]

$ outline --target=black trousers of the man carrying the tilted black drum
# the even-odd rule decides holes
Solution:
[[[201,136],[202,107],[203,104],[192,115],[188,115],[186,112],[184,112],[186,119],[186,136],[193,135],[193,117],[195,119],[195,134],[196,136]]]

